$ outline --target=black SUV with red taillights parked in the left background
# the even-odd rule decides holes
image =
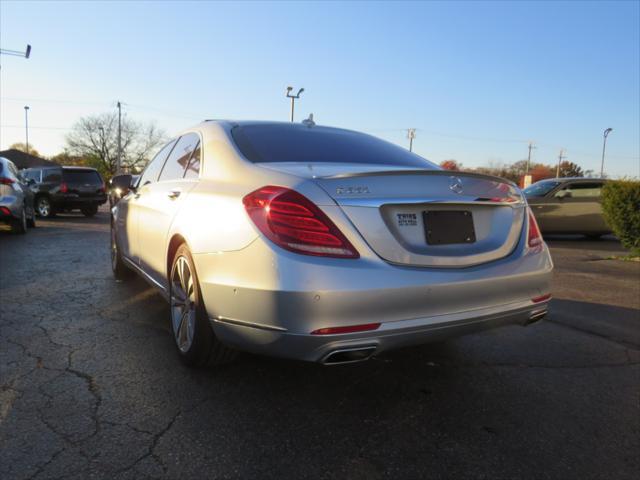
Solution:
[[[104,181],[95,168],[35,167],[23,170],[23,176],[36,182],[32,189],[41,217],[70,210],[92,217],[107,201]]]

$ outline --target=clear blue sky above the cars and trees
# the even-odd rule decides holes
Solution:
[[[560,148],[640,175],[640,3],[0,2],[0,148],[57,153],[81,115],[126,104],[168,134],[204,118],[298,120],[373,133],[467,166]]]

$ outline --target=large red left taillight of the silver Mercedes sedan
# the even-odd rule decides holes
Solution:
[[[242,203],[258,229],[286,250],[320,257],[360,257],[329,217],[295,190],[262,187]]]

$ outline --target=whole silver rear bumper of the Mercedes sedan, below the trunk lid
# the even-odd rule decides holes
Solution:
[[[203,300],[216,335],[239,349],[322,361],[333,349],[376,351],[415,345],[544,313],[532,299],[551,290],[546,246],[524,241],[501,260],[468,268],[412,268],[373,255],[357,260],[297,255],[258,239],[234,252],[195,254]],[[375,331],[312,335],[331,327],[380,323]]]

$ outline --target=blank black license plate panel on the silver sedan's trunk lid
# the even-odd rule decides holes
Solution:
[[[469,210],[427,210],[422,212],[429,245],[474,243],[476,232]]]

